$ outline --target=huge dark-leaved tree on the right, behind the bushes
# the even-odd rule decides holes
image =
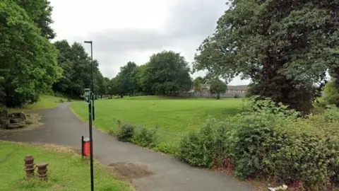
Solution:
[[[307,113],[326,69],[339,63],[338,6],[339,1],[231,1],[213,36],[199,47],[194,69],[229,81],[241,74],[253,81],[250,94]]]

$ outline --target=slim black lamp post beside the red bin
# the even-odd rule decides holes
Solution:
[[[94,121],[94,95],[93,95],[93,46],[92,40],[85,41],[85,43],[90,43],[90,62],[92,67],[92,101],[88,104],[88,120],[89,120],[89,129],[90,129],[90,190],[94,191],[94,175],[93,175],[93,129],[92,129],[92,120]],[[92,118],[93,117],[93,118]]]

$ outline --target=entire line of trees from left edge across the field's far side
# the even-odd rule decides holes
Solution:
[[[49,42],[56,35],[50,27],[51,15],[47,0],[1,1],[0,105],[13,108],[35,103],[51,88],[67,96],[82,96],[83,88],[90,88],[92,66],[97,95],[172,96],[192,87],[188,62],[172,51],[153,54],[140,66],[128,62],[113,79],[105,78],[99,62],[93,60],[92,65],[80,43]],[[206,80],[194,81],[196,90],[201,83]]]

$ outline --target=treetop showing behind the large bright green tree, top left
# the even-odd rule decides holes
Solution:
[[[25,9],[26,13],[32,21],[34,21],[40,28],[42,35],[47,39],[54,39],[55,33],[51,28],[52,20],[52,6],[47,0],[16,0],[18,6]]]

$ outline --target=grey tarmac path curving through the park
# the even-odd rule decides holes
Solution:
[[[69,103],[39,112],[42,114],[44,125],[30,131],[2,135],[0,139],[36,141],[80,148],[81,136],[88,137],[88,124],[79,120],[69,110]],[[93,128],[93,141],[94,157],[107,166],[114,166],[116,170],[122,172],[122,175],[130,176],[136,190],[254,190],[251,185],[231,176],[193,168],[167,154],[117,141],[114,137],[95,128]],[[138,172],[138,169],[141,172]]]

